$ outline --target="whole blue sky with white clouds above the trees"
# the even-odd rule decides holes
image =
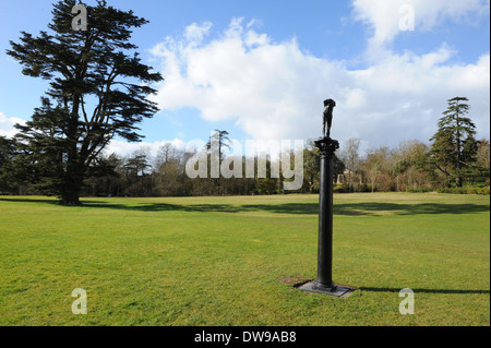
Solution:
[[[428,142],[456,95],[469,98],[478,136],[489,139],[489,0],[108,2],[151,22],[133,43],[166,77],[155,97],[163,110],[141,125],[143,145],[183,144],[214,129],[241,142],[318,137],[328,97],[338,103],[333,136],[342,143]],[[47,89],[4,51],[21,31],[46,29],[51,3],[0,2],[0,135],[27,120]],[[411,31],[400,27],[407,4]]]

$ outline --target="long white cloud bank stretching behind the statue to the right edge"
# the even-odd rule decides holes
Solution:
[[[211,36],[211,28],[193,24],[184,33]],[[294,140],[321,135],[322,101],[333,98],[339,141],[392,145],[431,137],[446,100],[458,95],[469,98],[479,135],[489,137],[489,52],[470,64],[450,63],[456,52],[443,44],[422,56],[386,52],[350,70],[302,51],[296,39],[275,43],[241,19],[211,40],[188,36],[152,49],[166,77],[155,96],[164,109],[194,107],[211,122],[235,120],[253,139]]]

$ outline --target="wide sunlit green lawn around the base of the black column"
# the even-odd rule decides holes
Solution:
[[[0,197],[0,325],[490,325],[489,196],[335,195],[346,299],[292,286],[316,276],[315,195],[83,203]]]

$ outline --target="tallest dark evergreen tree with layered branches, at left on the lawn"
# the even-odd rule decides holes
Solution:
[[[142,139],[136,127],[158,110],[146,99],[149,84],[163,80],[141,63],[131,44],[131,28],[147,23],[132,11],[108,7],[105,0],[86,7],[86,31],[72,28],[75,0],[53,4],[52,33],[38,37],[22,32],[7,53],[23,73],[50,81],[47,96],[33,119],[20,130],[19,141],[32,155],[38,183],[60,195],[62,204],[80,204],[84,178],[97,156],[118,135]],[[93,171],[93,170],[92,170]]]

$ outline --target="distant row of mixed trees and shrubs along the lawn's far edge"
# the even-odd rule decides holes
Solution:
[[[454,101],[448,100],[450,109]],[[460,105],[464,101],[460,98]],[[468,106],[465,109],[468,110]],[[361,140],[349,139],[342,144],[334,158],[335,192],[424,192],[467,185],[488,187],[489,193],[490,142],[475,140],[474,123],[470,119],[466,120],[466,112],[458,112],[458,122],[457,113],[451,120],[450,112],[444,112],[439,130],[429,144],[415,140],[403,141],[395,147],[373,147],[360,154]],[[212,136],[203,149],[207,152],[209,163],[213,146],[216,146],[221,163],[231,142],[227,131],[215,130],[214,134],[215,141]],[[460,139],[457,139],[457,134]],[[298,155],[291,153],[292,163]],[[207,178],[190,179],[185,165],[192,156],[194,153],[187,153],[171,143],[163,145],[155,156],[144,147],[129,156],[100,154],[96,158],[98,170],[86,176],[81,195],[192,196],[319,192],[320,153],[313,140],[307,142],[302,152],[303,185],[297,191],[285,192],[284,179],[271,177],[274,165],[271,158],[266,159],[266,178],[259,178],[258,173],[254,178],[246,178],[244,173],[241,178],[211,178],[208,168]],[[28,156],[15,139],[0,137],[0,193],[59,194],[51,183],[53,178],[46,178],[43,170],[32,170],[33,166],[43,164],[27,164],[26,158]],[[247,157],[242,156],[241,160],[242,165],[246,164]],[[343,177],[342,183],[338,183],[339,176]]]

